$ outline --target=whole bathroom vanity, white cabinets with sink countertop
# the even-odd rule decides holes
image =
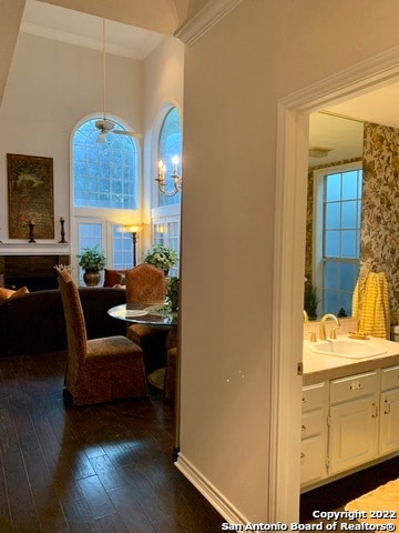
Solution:
[[[304,341],[301,492],[399,453],[399,343],[359,341],[355,359],[315,346]]]

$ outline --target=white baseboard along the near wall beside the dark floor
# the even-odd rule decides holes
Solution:
[[[249,521],[185,457],[177,454],[175,466],[211,503],[213,507],[231,524],[247,524]]]

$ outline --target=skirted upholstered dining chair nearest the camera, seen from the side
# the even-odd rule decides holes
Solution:
[[[145,396],[141,348],[123,335],[88,340],[79,291],[68,272],[59,272],[59,286],[68,334],[65,391],[73,405]]]

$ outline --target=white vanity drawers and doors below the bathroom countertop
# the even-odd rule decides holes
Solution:
[[[303,492],[399,454],[399,364],[305,385],[301,403]]]

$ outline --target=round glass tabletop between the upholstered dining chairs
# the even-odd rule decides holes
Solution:
[[[176,325],[177,312],[170,311],[165,304],[137,305],[126,304],[115,305],[108,310],[108,314],[113,319],[133,322],[135,324],[151,325]]]

